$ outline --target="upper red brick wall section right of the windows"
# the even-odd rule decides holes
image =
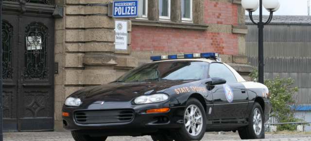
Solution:
[[[204,1],[204,22],[238,25],[238,5],[228,2]]]

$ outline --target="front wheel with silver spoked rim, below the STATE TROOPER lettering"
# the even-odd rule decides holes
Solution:
[[[171,132],[175,141],[199,141],[203,138],[206,129],[206,114],[199,100],[187,100],[184,110],[183,127]]]

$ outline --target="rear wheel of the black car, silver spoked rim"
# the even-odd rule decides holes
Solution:
[[[264,115],[258,102],[254,102],[248,116],[248,125],[239,130],[242,140],[264,139]]]

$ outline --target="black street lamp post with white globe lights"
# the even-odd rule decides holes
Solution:
[[[262,22],[262,4],[264,8],[270,12],[268,20],[263,23]],[[280,7],[280,3],[278,0],[242,0],[242,7],[248,11],[249,18],[251,21],[258,25],[258,59],[259,59],[259,67],[258,67],[258,78],[259,83],[263,84],[263,26],[267,25],[271,22],[273,12],[278,10]],[[256,23],[253,20],[252,13],[256,11],[259,7],[259,22]]]

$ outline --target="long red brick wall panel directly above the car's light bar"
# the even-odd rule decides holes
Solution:
[[[132,50],[238,54],[235,33],[132,27]]]

